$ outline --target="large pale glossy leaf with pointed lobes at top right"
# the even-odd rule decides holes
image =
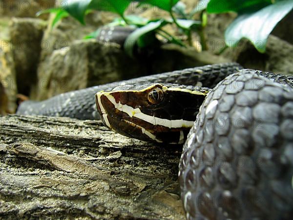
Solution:
[[[249,39],[259,52],[265,52],[274,26],[293,8],[293,0],[282,0],[252,14],[239,15],[227,28],[228,46],[236,46],[242,38]]]

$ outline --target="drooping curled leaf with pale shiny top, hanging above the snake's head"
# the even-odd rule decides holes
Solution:
[[[143,38],[143,36],[166,25],[167,23],[168,22],[163,19],[158,22],[149,22],[145,26],[137,28],[135,31],[129,34],[124,43],[126,54],[128,54],[130,57],[133,57],[133,48],[135,44],[137,44],[139,47],[144,47],[151,44],[151,42],[153,42],[153,38]]]

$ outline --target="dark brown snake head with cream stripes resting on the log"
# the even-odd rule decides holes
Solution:
[[[128,137],[183,144],[209,89],[174,84],[117,87],[96,93],[106,127]]]

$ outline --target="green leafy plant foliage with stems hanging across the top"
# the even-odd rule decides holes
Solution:
[[[269,34],[274,26],[286,16],[293,8],[293,0],[200,0],[198,5],[186,12],[186,6],[179,0],[136,0],[139,4],[149,4],[167,11],[169,19],[158,18],[149,20],[135,15],[125,15],[125,11],[133,0],[66,0],[60,7],[42,13],[56,13],[53,26],[60,19],[70,15],[84,24],[84,15],[92,10],[110,11],[116,13],[121,19],[116,19],[109,26],[132,25],[137,29],[126,39],[125,49],[131,56],[132,47],[137,42],[140,47],[153,43],[151,35],[159,34],[169,42],[187,46],[175,36],[162,29],[163,26],[174,23],[188,36],[189,45],[192,44],[191,32],[195,31],[201,38],[202,49],[207,49],[204,28],[207,25],[207,13],[236,12],[237,18],[229,25],[225,32],[227,46],[233,47],[242,38],[247,38],[259,52],[265,52]],[[200,20],[194,20],[195,14],[200,13]],[[88,35],[94,38],[100,29]],[[144,37],[147,35],[148,37]]]

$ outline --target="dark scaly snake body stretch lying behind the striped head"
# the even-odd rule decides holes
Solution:
[[[241,69],[235,63],[216,64],[187,68],[172,72],[143,76],[135,79],[108,83],[56,95],[42,102],[26,101],[21,104],[17,114],[62,116],[78,119],[99,119],[95,94],[102,90],[112,90],[123,85],[144,85],[147,83],[174,83],[194,85],[200,82],[213,88],[227,75]]]

